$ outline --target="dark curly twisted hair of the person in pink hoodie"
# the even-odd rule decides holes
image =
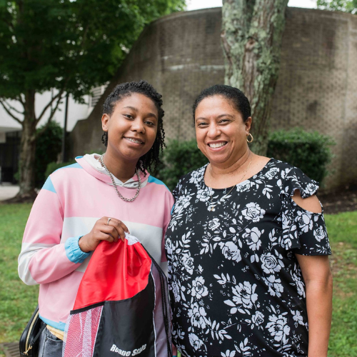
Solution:
[[[114,88],[114,91],[107,96],[106,101],[103,104],[103,114],[108,114],[111,116],[114,112],[114,108],[116,104],[124,99],[127,96],[130,96],[133,93],[144,94],[149,99],[154,101],[156,109],[158,111],[158,129],[156,133],[156,138],[154,141],[154,145],[151,149],[141,158],[139,159],[138,163],[136,164],[136,169],[139,169],[145,173],[145,170],[154,170],[161,164],[160,154],[165,145],[165,131],[163,126],[163,117],[164,117],[164,109],[161,108],[162,106],[162,96],[159,94],[151,84],[146,81],[138,81],[138,82],[127,82],[119,84]],[[104,131],[103,136],[101,137],[101,141],[105,146],[108,145],[108,132]]]

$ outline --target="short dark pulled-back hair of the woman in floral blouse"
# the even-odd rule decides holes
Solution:
[[[248,98],[240,91],[238,88],[232,86],[226,86],[224,84],[216,84],[214,86],[203,89],[192,107],[193,122],[195,121],[195,112],[198,104],[200,104],[203,99],[209,96],[223,96],[224,98],[231,101],[236,111],[241,113],[243,116],[243,121],[246,122],[251,116],[251,104],[249,104]]]

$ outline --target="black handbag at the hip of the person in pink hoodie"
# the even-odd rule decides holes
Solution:
[[[39,337],[41,332],[44,331],[46,323],[39,318],[39,305],[36,306],[30,321],[27,323],[24,332],[20,338],[20,356],[39,356]]]

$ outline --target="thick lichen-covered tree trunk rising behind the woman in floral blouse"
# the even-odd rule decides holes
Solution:
[[[278,79],[288,0],[223,0],[221,41],[225,83],[251,103],[251,149],[266,155],[271,99]]]

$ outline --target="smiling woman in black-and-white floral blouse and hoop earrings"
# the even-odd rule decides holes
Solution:
[[[193,105],[209,164],[183,176],[166,232],[183,356],[327,356],[331,254],[318,185],[253,154],[251,109],[231,86]]]

